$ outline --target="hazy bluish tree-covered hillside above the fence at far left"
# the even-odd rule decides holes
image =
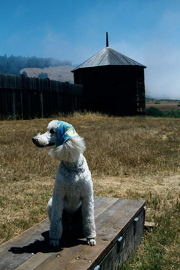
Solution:
[[[11,55],[7,57],[7,55],[0,55],[0,73],[5,74],[14,74],[20,75],[20,70],[23,68],[29,67],[57,67],[64,65],[72,65],[71,61],[68,60],[56,60],[54,58],[42,58],[42,57],[23,57],[23,56],[14,56]]]

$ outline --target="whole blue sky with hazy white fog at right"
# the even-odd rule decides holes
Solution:
[[[180,99],[180,1],[0,0],[0,55],[82,63],[109,46],[147,66],[146,94]]]

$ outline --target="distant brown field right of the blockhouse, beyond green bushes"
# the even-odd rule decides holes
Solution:
[[[147,101],[146,100],[146,108],[149,108],[151,106],[153,107],[156,107],[158,108],[159,110],[161,111],[169,111],[169,110],[172,110],[172,109],[176,109],[176,110],[180,110],[180,106],[178,106],[179,104],[179,101],[167,101],[167,100],[164,100],[164,101],[159,101],[159,104],[155,104],[156,100],[152,101],[152,100],[149,100]]]

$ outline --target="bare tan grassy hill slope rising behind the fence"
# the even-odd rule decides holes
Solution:
[[[23,71],[26,71],[27,76],[38,77],[39,73],[44,72],[48,74],[48,78],[51,80],[74,83],[73,73],[70,72],[73,68],[73,66],[57,66],[44,68],[29,67],[21,69],[20,73],[22,74]]]

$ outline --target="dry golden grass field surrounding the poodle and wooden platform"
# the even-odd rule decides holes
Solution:
[[[85,138],[95,195],[146,199],[145,232],[126,269],[180,269],[180,120],[75,113],[70,122]],[[58,162],[31,138],[52,119],[1,121],[0,241],[47,217]]]

